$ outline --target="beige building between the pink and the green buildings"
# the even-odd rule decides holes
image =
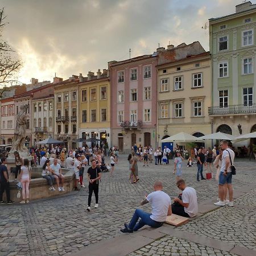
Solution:
[[[211,133],[208,116],[212,89],[210,54],[200,48],[199,42],[193,44],[196,47],[182,44],[180,57],[173,46],[170,51],[160,53],[160,63],[167,62],[168,55],[173,59],[158,65],[159,145],[162,139],[181,131],[196,137]],[[163,58],[165,61],[161,61]],[[206,143],[205,146],[211,144]]]

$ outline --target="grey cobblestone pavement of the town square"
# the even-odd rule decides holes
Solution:
[[[172,174],[173,162],[160,166],[150,164],[150,167],[143,167],[143,164],[139,163],[140,181],[130,184],[126,158],[127,156],[119,157],[113,178],[109,173],[102,174],[99,208],[93,208],[90,213],[86,212],[87,187],[68,196],[35,201],[28,205],[0,205],[0,255],[74,253],[98,241],[122,235],[119,229],[124,222],[130,220],[144,195],[152,191],[155,180],[163,181],[164,191],[172,198],[180,192]],[[237,162],[236,166],[237,175],[233,178],[235,190],[246,184],[255,184],[255,162],[243,160]],[[217,181],[212,179],[197,182],[196,171],[196,167],[187,168],[184,163],[183,178],[189,186],[196,189],[199,203],[213,196],[217,199]],[[59,192],[55,193],[59,195]],[[236,203],[255,207],[255,193],[254,189],[251,195],[237,199]],[[92,206],[93,203],[94,197]],[[143,206],[143,209],[150,210],[150,205]],[[230,217],[223,225],[226,214]],[[255,249],[255,232],[252,232],[255,230],[255,212],[252,209],[225,207],[213,210],[179,229],[217,240],[226,236],[230,242]],[[170,243],[188,243],[171,237],[165,238],[168,238]],[[208,247],[188,244],[189,247],[199,248],[198,250],[210,250]],[[213,255],[218,253],[213,251]]]

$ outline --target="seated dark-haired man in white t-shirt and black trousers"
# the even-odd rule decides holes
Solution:
[[[172,204],[172,213],[183,217],[194,217],[198,213],[196,190],[187,187],[183,179],[176,182],[177,187],[183,191],[181,199],[175,197]]]

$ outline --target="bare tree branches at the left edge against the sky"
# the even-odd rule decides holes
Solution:
[[[8,90],[9,85],[18,82],[15,79],[19,69],[22,67],[22,61],[18,59],[14,49],[3,39],[3,28],[6,26],[6,16],[4,8],[0,9],[0,98],[3,92]]]

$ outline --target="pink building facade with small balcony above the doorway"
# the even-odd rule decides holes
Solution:
[[[157,57],[110,61],[112,146],[156,146]]]

